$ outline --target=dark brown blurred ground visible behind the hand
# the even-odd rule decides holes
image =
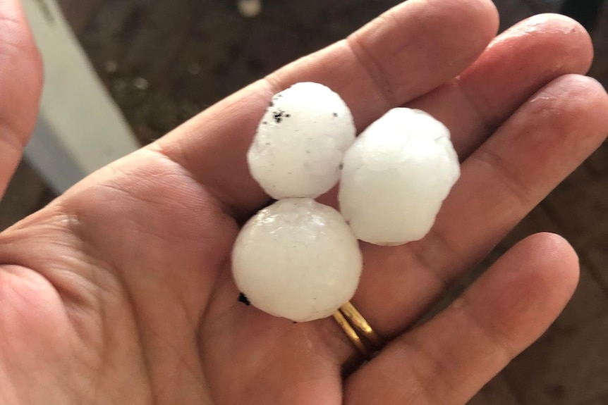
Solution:
[[[140,144],[399,2],[58,0]],[[579,20],[595,42],[590,75],[608,85],[608,6],[602,1],[494,2],[501,30],[536,13]],[[54,197],[24,161],[1,201],[0,228]],[[519,239],[539,231],[558,232],[573,244],[580,285],[552,328],[470,404],[608,405],[608,144],[542,201],[454,294]]]

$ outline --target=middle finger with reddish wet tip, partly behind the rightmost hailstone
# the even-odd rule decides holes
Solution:
[[[561,75],[587,73],[592,58],[579,23],[535,15],[494,39],[462,75],[408,106],[446,124],[463,161],[538,89]]]

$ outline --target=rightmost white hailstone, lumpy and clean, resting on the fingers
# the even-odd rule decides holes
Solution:
[[[418,240],[431,229],[459,176],[445,125],[424,111],[394,108],[346,152],[340,211],[365,242]]]

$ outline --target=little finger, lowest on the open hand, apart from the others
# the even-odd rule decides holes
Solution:
[[[465,404],[540,337],[577,282],[578,258],[564,239],[525,239],[451,306],[352,375],[345,403]]]

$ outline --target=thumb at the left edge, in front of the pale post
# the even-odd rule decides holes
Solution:
[[[0,198],[36,123],[42,63],[18,0],[0,2]]]

